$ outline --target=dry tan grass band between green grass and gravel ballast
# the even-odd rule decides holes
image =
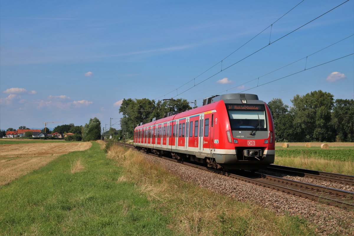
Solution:
[[[112,146],[107,156],[127,173],[118,181],[135,183],[173,219],[168,227],[181,235],[281,235],[286,218],[252,204],[234,201],[185,183],[137,151]],[[246,223],[245,223],[246,222]],[[217,231],[216,231],[217,230]]]

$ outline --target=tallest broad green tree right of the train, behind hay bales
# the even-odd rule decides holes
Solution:
[[[298,127],[298,139],[301,142],[332,141],[333,129],[330,125],[333,95],[331,93],[313,91],[304,96],[296,95],[291,100],[290,109],[294,117],[293,123]]]

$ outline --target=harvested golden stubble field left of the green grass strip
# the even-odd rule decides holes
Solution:
[[[3,144],[0,152],[0,186],[45,166],[59,155],[90,147],[90,142]]]

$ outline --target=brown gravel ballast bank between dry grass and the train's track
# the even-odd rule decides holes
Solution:
[[[300,215],[307,219],[310,225],[315,228],[317,235],[354,236],[354,212],[352,211],[288,195],[280,191],[207,172],[181,163],[146,154],[144,156],[146,160],[158,163],[170,173],[178,175],[185,181],[198,184],[202,188],[210,189],[213,192],[218,192],[239,201],[261,205],[281,215],[286,213],[289,213],[289,215]],[[320,182],[322,183],[322,181]],[[319,183],[317,184],[320,185]]]

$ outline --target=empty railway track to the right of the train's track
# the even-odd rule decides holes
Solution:
[[[314,171],[310,169],[301,169],[290,166],[270,165],[267,169],[271,171],[284,171],[295,174],[300,177],[308,177],[312,179],[326,180],[329,182],[336,182],[341,184],[354,185],[354,176],[345,174],[336,174],[323,171]]]

